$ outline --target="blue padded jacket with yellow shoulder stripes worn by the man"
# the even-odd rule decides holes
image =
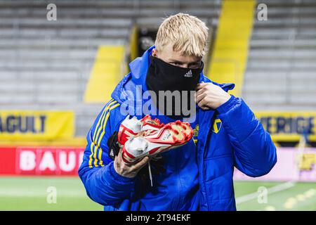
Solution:
[[[145,76],[150,65],[150,47],[142,57],[130,63],[126,75],[112,93],[112,99],[100,112],[88,131],[84,161],[79,176],[88,196],[105,210],[236,210],[232,175],[234,167],[248,176],[263,176],[277,162],[276,148],[242,98],[230,100],[216,110],[197,107],[198,133],[195,143],[162,153],[166,172],[153,177],[154,187],[144,186],[136,178],[126,178],[114,170],[107,155],[107,139],[126,115],[121,108],[126,99],[146,90]],[[212,82],[201,75],[199,82]],[[235,84],[217,84],[225,91]],[[141,115],[141,104],[133,113]],[[138,112],[138,114],[137,114]],[[140,112],[140,114],[139,114]],[[164,115],[162,122],[171,122]],[[149,181],[148,181],[149,183]]]

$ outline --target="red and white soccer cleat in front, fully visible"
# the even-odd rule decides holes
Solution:
[[[159,153],[183,146],[192,136],[193,130],[189,123],[179,120],[171,122],[159,131],[131,137],[122,149],[122,159],[126,164],[133,164],[145,156],[152,158]]]

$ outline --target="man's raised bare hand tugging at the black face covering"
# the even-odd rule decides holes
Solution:
[[[230,99],[230,94],[215,84],[199,83],[195,90],[195,101],[202,110],[216,110]]]

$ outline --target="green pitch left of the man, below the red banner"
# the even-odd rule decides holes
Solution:
[[[55,203],[52,190],[57,193]],[[0,177],[0,210],[103,210],[103,207],[88,198],[77,177]]]

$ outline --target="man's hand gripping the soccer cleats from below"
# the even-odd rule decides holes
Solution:
[[[149,158],[146,156],[143,160],[140,160],[140,162],[137,162],[136,164],[126,165],[121,158],[121,150],[119,150],[119,155],[117,155],[114,159],[114,169],[121,176],[133,178],[138,174],[140,169],[147,165],[148,160]]]

